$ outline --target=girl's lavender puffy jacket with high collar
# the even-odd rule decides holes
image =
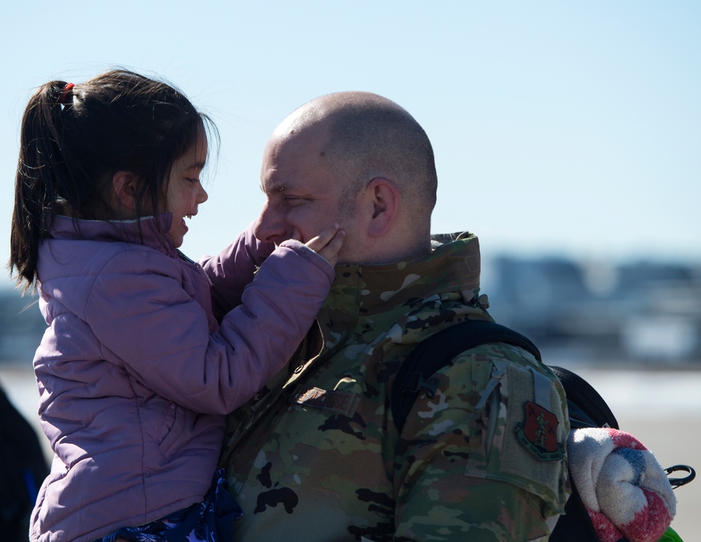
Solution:
[[[79,221],[78,233],[57,217],[41,245],[48,328],[34,370],[55,456],[32,541],[92,541],[201,501],[224,414],[283,367],[333,280],[297,241],[270,254],[249,229],[200,266],[163,246],[154,219],[141,229],[143,245],[135,222]]]

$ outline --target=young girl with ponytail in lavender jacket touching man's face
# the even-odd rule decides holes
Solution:
[[[249,230],[203,266],[184,257],[207,128],[123,70],[46,83],[25,110],[9,266],[48,324],[34,370],[55,452],[32,541],[231,539],[236,503],[212,483],[224,414],[294,353],[343,232],[271,253]],[[212,299],[238,306],[215,318]]]

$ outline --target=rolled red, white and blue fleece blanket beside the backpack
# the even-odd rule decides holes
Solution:
[[[572,431],[569,470],[601,542],[656,542],[676,513],[667,473],[633,435]]]

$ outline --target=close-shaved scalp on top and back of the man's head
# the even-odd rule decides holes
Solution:
[[[386,177],[397,185],[414,218],[430,229],[437,190],[433,147],[405,109],[372,93],[329,94],[293,111],[275,135],[290,137],[310,130],[325,140],[322,152],[343,184],[344,202],[352,205],[352,196],[368,182]]]

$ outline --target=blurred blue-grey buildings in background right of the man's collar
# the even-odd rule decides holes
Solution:
[[[498,257],[483,277],[494,318],[551,360],[701,363],[701,266]]]

